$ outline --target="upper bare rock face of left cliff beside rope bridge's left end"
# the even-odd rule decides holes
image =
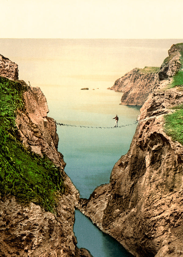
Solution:
[[[16,124],[20,141],[31,151],[42,156],[47,155],[56,165],[62,163],[63,155],[57,151],[58,135],[56,133],[56,121],[47,117],[48,105],[45,96],[40,88],[27,86],[20,81],[27,91],[23,95],[26,111],[17,111]]]

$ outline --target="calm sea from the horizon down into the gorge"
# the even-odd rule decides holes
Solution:
[[[41,88],[48,116],[63,124],[57,125],[58,150],[81,197],[89,198],[96,187],[109,183],[113,166],[129,150],[137,127],[141,106],[120,105],[122,93],[107,88],[135,67],[160,67],[172,44],[182,42],[0,39],[0,54],[18,64],[20,80]],[[118,128],[114,128],[116,114]],[[131,256],[79,210],[75,211],[74,233],[77,246],[87,248],[94,257]]]

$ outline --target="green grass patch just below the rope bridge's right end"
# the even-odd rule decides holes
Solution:
[[[176,111],[165,116],[164,131],[172,140],[183,145],[183,105],[174,107]]]

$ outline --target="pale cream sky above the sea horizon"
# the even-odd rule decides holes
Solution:
[[[183,37],[182,0],[0,0],[0,38]]]

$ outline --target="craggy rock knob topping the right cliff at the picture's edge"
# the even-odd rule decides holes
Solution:
[[[168,50],[169,56],[163,61],[158,74],[160,80],[173,77],[176,73],[178,73],[178,70],[181,68],[180,52],[182,50],[182,44],[172,45],[172,47]]]

